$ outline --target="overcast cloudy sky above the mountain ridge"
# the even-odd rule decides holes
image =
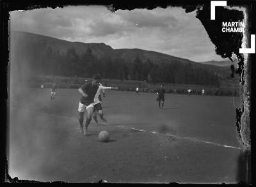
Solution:
[[[195,11],[182,8],[109,11],[105,6],[67,6],[10,12],[12,31],[68,41],[106,43],[113,49],[145,49],[191,61],[221,61]]]

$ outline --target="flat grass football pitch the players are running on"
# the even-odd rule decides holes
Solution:
[[[71,183],[237,183],[239,98],[106,91],[108,124],[79,132],[77,89],[10,93],[9,174]],[[85,116],[86,117],[86,114]],[[100,118],[98,116],[99,123]],[[98,134],[107,130],[109,142]]]

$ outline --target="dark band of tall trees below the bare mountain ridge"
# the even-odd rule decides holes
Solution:
[[[100,73],[105,79],[220,86],[218,75],[179,61],[156,64],[150,59],[142,61],[138,56],[134,61],[111,56],[98,58],[90,48],[79,55],[74,48],[60,52],[45,43],[31,46],[26,56],[29,66],[40,75],[92,77],[93,73]]]

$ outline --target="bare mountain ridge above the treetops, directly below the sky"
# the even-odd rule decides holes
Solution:
[[[85,50],[90,47],[92,49],[93,55],[97,57],[102,56],[115,56],[115,57],[124,57],[127,60],[134,60],[136,56],[140,56],[143,61],[148,57],[152,58],[156,63],[170,63],[171,61],[179,61],[180,63],[196,63],[196,64],[205,64],[205,65],[214,65],[214,66],[230,66],[232,62],[230,61],[205,61],[205,62],[196,62],[191,61],[190,59],[185,59],[182,57],[171,56],[169,54],[164,54],[163,52],[156,52],[154,50],[145,50],[145,49],[113,49],[110,45],[106,43],[84,43],[81,41],[67,41],[59,38],[54,38],[52,36],[45,36],[42,34],[28,33],[24,31],[11,31],[12,35],[24,35],[26,40],[29,38],[39,38],[39,40],[45,40],[48,45],[55,49],[61,50],[61,52],[66,52],[69,47],[74,47],[77,54],[81,55]],[[29,36],[29,38],[28,38]],[[51,44],[50,44],[51,41]],[[56,45],[57,42],[58,45]]]

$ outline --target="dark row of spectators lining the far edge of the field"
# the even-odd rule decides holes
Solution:
[[[31,87],[40,87],[41,85],[44,85],[43,87],[49,88],[52,86],[52,80],[51,79],[33,79],[33,84],[31,84]],[[58,88],[70,88],[70,89],[78,89],[81,84],[83,84],[84,79],[63,79],[63,77],[60,78],[60,80],[56,81]],[[31,82],[32,83],[32,82]],[[105,81],[102,80],[102,84],[104,86],[113,86],[118,87],[118,90],[120,91],[136,91],[136,87],[139,87],[139,91],[143,93],[157,93],[157,90],[159,89],[159,86],[157,84],[144,84],[144,85],[138,85],[137,82],[134,82],[134,84],[127,84],[127,82],[115,82],[113,80]],[[116,85],[118,84],[118,85]],[[145,86],[146,85],[146,86]],[[190,94],[190,95],[209,95],[209,96],[239,96],[239,89],[237,87],[207,87],[207,86],[179,86],[179,85],[173,85],[168,86],[168,84],[164,84],[164,89],[166,90],[166,93],[170,94]],[[188,89],[191,89],[190,92],[188,92]],[[203,91],[204,89],[204,91]],[[204,92],[204,93],[203,93]]]

